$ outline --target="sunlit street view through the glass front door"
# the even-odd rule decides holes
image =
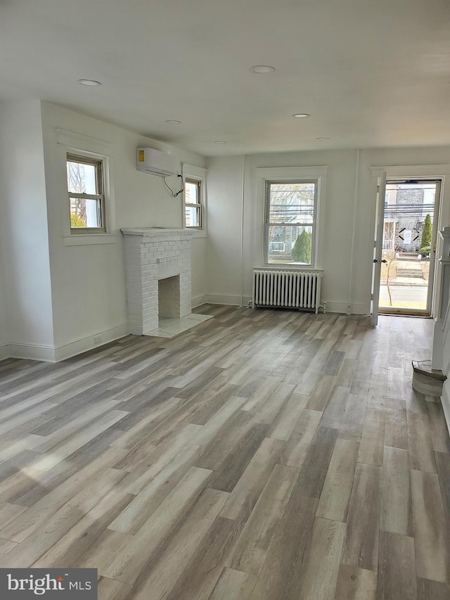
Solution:
[[[387,181],[379,312],[429,315],[440,181]]]

